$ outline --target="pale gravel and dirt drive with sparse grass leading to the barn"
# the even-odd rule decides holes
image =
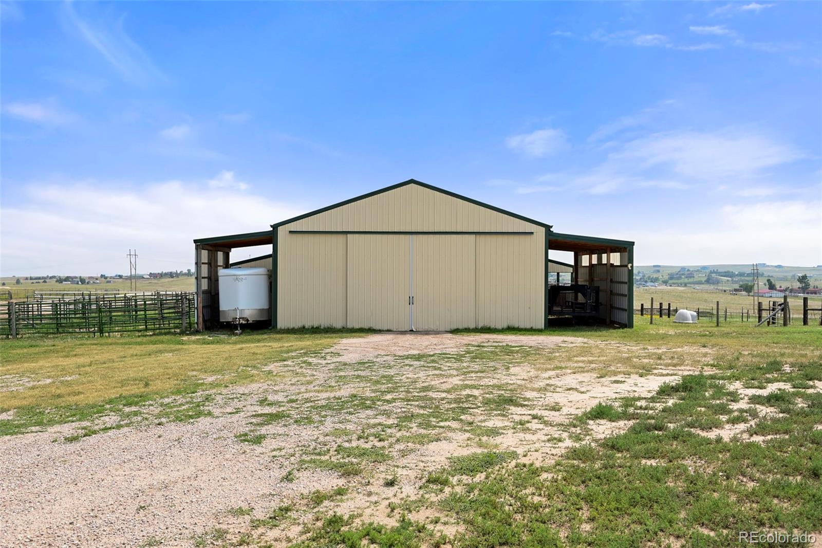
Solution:
[[[603,376],[593,372],[596,363],[547,370],[532,363],[563,348],[603,344],[380,333],[271,365],[282,373],[276,383],[219,392],[208,406],[213,416],[199,420],[72,443],[62,437],[81,425],[0,438],[0,545],[191,546],[213,527],[229,538],[248,533],[283,545],[321,513],[395,522],[392,502],[453,532],[431,505],[417,504],[436,499],[426,478],[450,457],[494,448],[550,462],[570,447],[572,432],[599,438],[626,427],[598,421],[582,432],[573,416],[603,399],[649,396],[685,372]],[[348,488],[346,495],[320,505],[307,498],[337,487]],[[293,510],[277,527],[250,524],[284,504]],[[238,508],[251,515],[229,513]]]

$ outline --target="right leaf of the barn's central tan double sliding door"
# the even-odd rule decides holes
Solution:
[[[475,236],[414,235],[412,245],[414,329],[475,327]]]

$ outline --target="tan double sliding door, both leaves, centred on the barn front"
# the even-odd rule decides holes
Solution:
[[[475,240],[475,235],[348,235],[348,325],[395,331],[474,327]]]

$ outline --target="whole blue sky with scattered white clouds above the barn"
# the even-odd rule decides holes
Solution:
[[[2,274],[122,272],[128,248],[187,268],[193,238],[409,178],[633,239],[639,264],[822,264],[820,21],[820,2],[4,2]]]

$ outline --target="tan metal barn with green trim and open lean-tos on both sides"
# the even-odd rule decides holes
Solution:
[[[217,272],[232,266],[271,269],[276,328],[543,328],[567,317],[633,327],[633,242],[557,233],[414,179],[194,244],[199,329],[215,327]],[[270,255],[230,261],[259,245]],[[573,264],[551,251],[572,252]]]

